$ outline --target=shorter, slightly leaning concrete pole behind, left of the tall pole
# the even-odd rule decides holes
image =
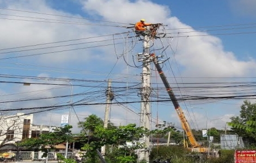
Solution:
[[[108,121],[109,121],[109,112],[110,112],[110,106],[111,101],[114,99],[114,94],[111,91],[111,79],[108,79],[108,85],[107,85],[107,91],[106,91],[106,107],[105,107],[105,116],[104,116],[104,124],[103,127],[107,128]],[[104,158],[106,153],[106,146],[101,147],[101,155]]]

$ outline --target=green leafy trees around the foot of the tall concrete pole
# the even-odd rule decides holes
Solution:
[[[97,162],[96,150],[106,146],[108,162],[135,162],[137,159],[136,150],[145,148],[140,140],[149,135],[166,135],[168,131],[174,133],[174,129],[163,124],[161,129],[148,130],[143,127],[136,127],[136,124],[127,126],[103,128],[102,120],[96,115],[90,115],[84,122],[80,122],[80,127],[84,131],[80,134],[84,142],[82,149],[86,151],[87,162]],[[114,155],[113,155],[114,153]],[[111,159],[109,159],[111,158]]]

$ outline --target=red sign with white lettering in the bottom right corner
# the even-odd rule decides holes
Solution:
[[[235,163],[256,162],[256,151],[235,151]]]

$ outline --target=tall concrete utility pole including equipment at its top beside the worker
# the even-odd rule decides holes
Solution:
[[[151,78],[151,71],[150,71],[150,64],[153,61],[153,57],[150,54],[150,40],[154,39],[155,37],[160,38],[164,37],[166,34],[162,36],[157,35],[156,30],[162,26],[161,23],[158,24],[151,24],[148,30],[136,32],[138,36],[144,36],[143,38],[143,53],[138,54],[138,61],[143,62],[142,67],[142,89],[141,89],[141,114],[139,118],[140,127],[144,127],[150,130],[150,93],[151,93],[151,85],[150,85],[150,78]],[[149,26],[148,26],[149,27]],[[149,162],[149,153],[150,153],[150,138],[149,136],[144,135],[144,137],[140,140],[141,143],[144,143],[145,147],[143,149],[138,150],[138,162],[145,160]]]

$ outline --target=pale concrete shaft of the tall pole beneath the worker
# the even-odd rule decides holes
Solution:
[[[150,57],[150,51],[149,51],[149,41],[150,36],[149,34],[146,34],[144,36],[143,40],[143,55],[147,57]],[[147,59],[143,59],[143,69],[142,69],[142,92],[141,92],[141,115],[140,115],[140,126],[150,129],[150,61]],[[140,149],[138,154],[138,160],[146,160],[149,162],[149,136],[144,136],[144,138],[141,140],[141,142],[145,143],[145,149]]]

